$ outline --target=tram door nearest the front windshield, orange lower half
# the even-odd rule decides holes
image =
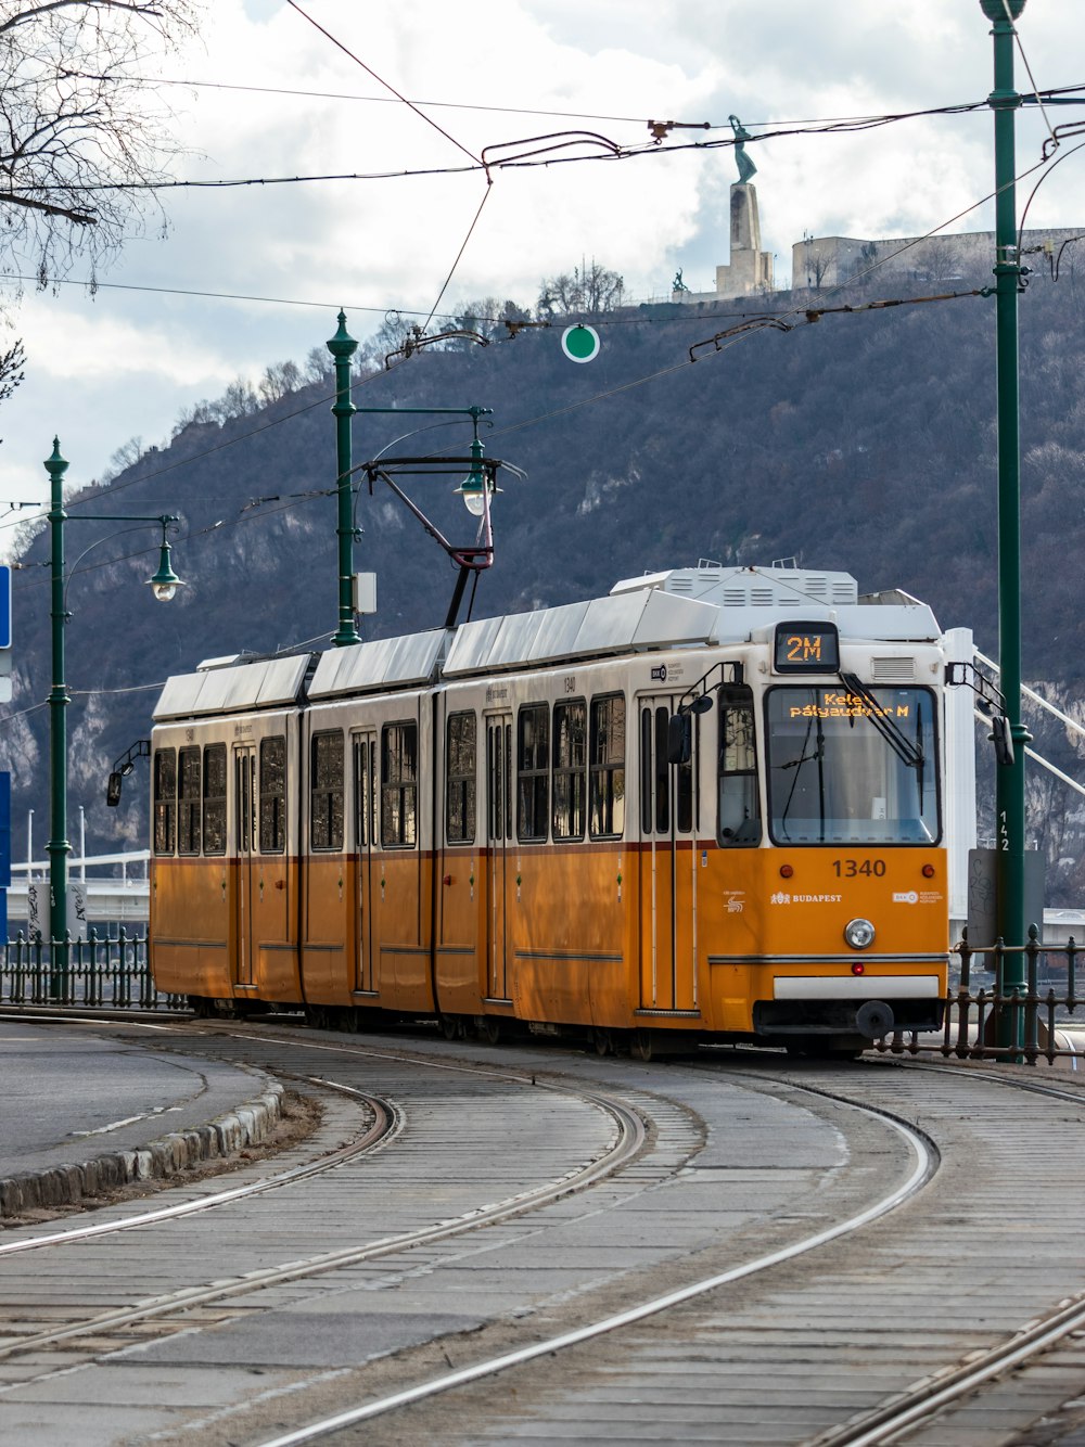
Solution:
[[[693,757],[667,760],[667,734],[678,695],[639,699],[641,773],[641,1009],[696,1010],[696,780]]]

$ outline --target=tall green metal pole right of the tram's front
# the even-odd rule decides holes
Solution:
[[[979,0],[994,36],[995,145],[995,304],[998,385],[998,666],[1001,689],[1014,742],[1014,763],[997,770],[997,919],[998,935],[1023,945],[1024,917],[1024,745],[1030,735],[1021,724],[1021,443],[1018,392],[1017,295],[1024,268],[1017,249],[1016,111],[1021,97],[1014,87],[1014,20],[1026,0]],[[1024,954],[1011,948],[1004,956],[1003,991],[1023,994]],[[1018,1046],[1020,1011],[1003,1019],[998,1043]]]

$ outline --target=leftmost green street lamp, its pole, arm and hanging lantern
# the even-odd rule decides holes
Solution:
[[[51,994],[59,993],[59,975],[68,964],[68,684],[64,677],[64,631],[68,609],[64,596],[64,525],[65,522],[156,522],[162,528],[158,572],[148,579],[150,590],[161,602],[169,602],[182,586],[169,563],[166,528],[178,518],[171,512],[153,515],[132,512],[95,512],[85,518],[71,518],[64,511],[64,475],[68,463],[61,457],[59,438],[52,440],[52,456],[45,462],[49,473],[49,538],[52,589],[52,689],[49,690],[49,941],[52,959]],[[59,967],[59,971],[58,971]]]

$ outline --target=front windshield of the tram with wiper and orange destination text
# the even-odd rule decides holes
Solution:
[[[861,697],[842,683],[778,687],[768,693],[767,721],[777,844],[937,841],[935,696],[927,689],[869,689]]]

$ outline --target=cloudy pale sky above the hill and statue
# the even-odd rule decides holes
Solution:
[[[302,363],[333,334],[340,305],[365,339],[389,310],[424,321],[450,272],[441,311],[490,295],[532,305],[542,278],[582,259],[621,272],[634,300],[668,297],[678,268],[693,291],[715,288],[732,150],[661,146],[619,162],[496,169],[488,188],[470,159],[483,146],[566,130],[641,145],[648,120],[713,127],[676,130],[681,140],[728,136],[731,114],[757,135],[978,101],[992,84],[978,0],[299,3],[354,58],[285,0],[213,0],[198,43],[148,75],[175,114],[176,179],[448,174],[172,191],[165,234],[149,216],[100,271],[97,294],[80,263],[68,284],[27,287],[7,333],[22,336],[27,366],[0,407],[0,505],[43,498],[55,434],[68,482],[101,479],[130,438],[161,446],[184,408],[269,363]],[[1018,35],[1018,90],[1031,85],[1026,62],[1042,90],[1085,84],[1081,0],[1029,0]],[[1073,107],[1047,122],[1075,116],[1085,122]],[[1044,117],[1023,113],[1017,135],[1024,172],[1040,159]],[[1076,143],[1063,142],[1065,165],[1036,192],[1030,227],[1085,230]],[[994,177],[984,110],[777,137],[748,153],[778,285],[804,233],[994,224],[978,204]],[[1021,181],[1018,204],[1040,175]]]

